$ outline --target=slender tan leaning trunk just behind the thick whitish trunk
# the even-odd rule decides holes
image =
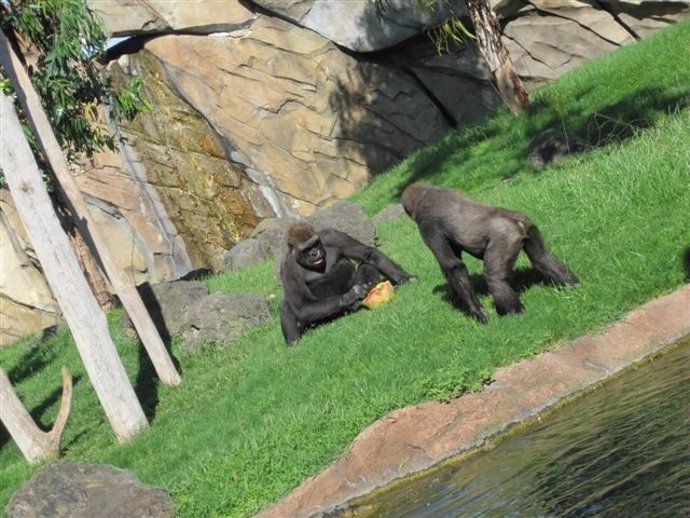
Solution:
[[[166,385],[179,385],[182,380],[151,319],[151,315],[144,306],[139,292],[133,285],[129,284],[124,273],[117,267],[115,260],[108,251],[105,240],[98,233],[81,192],[69,172],[62,149],[53,134],[38,94],[2,30],[0,30],[0,64],[17,91],[17,97],[24,108],[24,113],[31,124],[36,140],[50,163],[67,207],[74,215],[75,225],[89,244],[94,257],[103,266],[108,280],[131,318],[139,338],[151,358],[156,373]]]

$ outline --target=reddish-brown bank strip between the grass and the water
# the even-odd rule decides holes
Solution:
[[[359,434],[340,459],[258,517],[326,514],[397,478],[476,448],[688,334],[690,285],[640,306],[601,333],[498,369],[495,381],[481,392],[391,412]]]

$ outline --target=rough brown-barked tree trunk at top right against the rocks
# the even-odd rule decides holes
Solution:
[[[527,91],[501,41],[501,28],[489,0],[467,0],[467,10],[477,36],[477,46],[494,75],[498,93],[513,115],[529,104]]]

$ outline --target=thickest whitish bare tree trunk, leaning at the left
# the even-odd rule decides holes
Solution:
[[[146,416],[117,355],[105,314],[53,210],[12,101],[2,93],[0,134],[0,167],[17,212],[115,435],[126,441],[148,426]]]

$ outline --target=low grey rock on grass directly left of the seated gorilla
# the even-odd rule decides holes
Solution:
[[[185,350],[197,353],[203,345],[226,345],[269,319],[268,303],[258,295],[212,293],[198,300],[184,317]]]

